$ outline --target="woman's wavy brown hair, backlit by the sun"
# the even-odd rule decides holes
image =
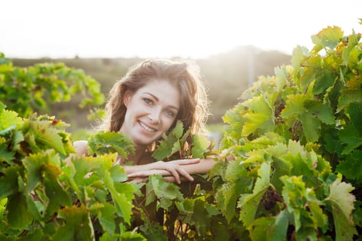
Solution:
[[[204,131],[208,118],[208,98],[200,78],[199,66],[193,61],[170,61],[148,59],[130,67],[128,72],[110,90],[105,105],[105,119],[101,129],[119,132],[125,118],[126,107],[123,96],[126,91],[137,92],[155,78],[164,79],[180,92],[180,109],[170,130],[178,120],[190,134]]]

